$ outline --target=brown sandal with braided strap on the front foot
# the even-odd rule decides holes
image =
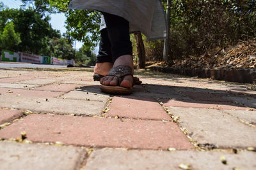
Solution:
[[[127,76],[127,75],[132,76],[131,67],[129,67],[129,66],[113,67],[109,71],[107,76],[116,76],[118,78],[118,86],[100,85],[100,89],[102,90],[102,92],[105,92],[108,94],[118,94],[118,95],[132,94],[132,88],[128,89],[125,87],[120,87],[120,83],[122,82],[124,76]]]

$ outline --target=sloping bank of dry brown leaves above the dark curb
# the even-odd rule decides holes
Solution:
[[[192,55],[173,62],[148,63],[148,67],[201,68],[201,69],[253,69],[256,68],[256,38],[242,41],[228,48],[216,48],[200,57]]]

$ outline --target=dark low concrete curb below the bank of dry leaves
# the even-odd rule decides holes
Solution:
[[[239,83],[253,83],[253,81],[256,81],[256,69],[175,69],[172,67],[148,67],[148,69],[163,73],[198,76],[199,78],[212,78]]]

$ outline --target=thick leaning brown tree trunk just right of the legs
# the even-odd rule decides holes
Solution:
[[[146,53],[145,53],[145,46],[143,43],[141,32],[134,33],[134,36],[136,39],[136,46],[137,46],[137,52],[138,52],[137,69],[143,69],[145,68]]]

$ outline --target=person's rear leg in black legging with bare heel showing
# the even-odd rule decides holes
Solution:
[[[106,76],[113,67],[113,59],[111,53],[111,44],[108,38],[108,30],[100,31],[99,54],[97,55],[94,73]]]

